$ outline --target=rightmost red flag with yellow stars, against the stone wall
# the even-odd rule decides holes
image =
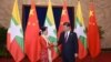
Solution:
[[[90,4],[90,18],[88,27],[88,45],[92,58],[95,58],[100,53],[100,37],[99,28],[97,25],[97,19],[93,4]]]

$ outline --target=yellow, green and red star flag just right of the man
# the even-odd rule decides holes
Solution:
[[[85,34],[85,27],[83,22],[80,1],[78,1],[78,7],[77,7],[74,32],[78,35],[79,59],[83,59],[87,55],[87,34]]]

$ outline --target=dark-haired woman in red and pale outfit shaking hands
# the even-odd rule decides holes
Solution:
[[[48,28],[47,27],[42,27],[41,31],[40,31],[40,61],[41,62],[52,62],[51,60],[51,48],[52,44],[50,43],[50,41],[48,40]]]

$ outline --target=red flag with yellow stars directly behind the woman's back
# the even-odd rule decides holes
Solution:
[[[24,37],[24,51],[31,62],[36,62],[38,56],[38,38],[39,38],[39,22],[36,11],[36,4],[31,0],[31,9],[29,13],[29,20],[26,29]],[[38,46],[37,46],[38,45]]]

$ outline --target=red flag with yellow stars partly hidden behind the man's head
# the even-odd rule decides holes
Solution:
[[[65,1],[64,1],[64,3],[63,3],[61,20],[60,20],[60,25],[59,25],[59,31],[58,31],[58,38],[60,37],[60,33],[61,33],[62,30],[63,30],[63,23],[64,23],[64,22],[70,22],[70,21],[69,21],[69,14],[68,14],[67,2],[65,2]]]

